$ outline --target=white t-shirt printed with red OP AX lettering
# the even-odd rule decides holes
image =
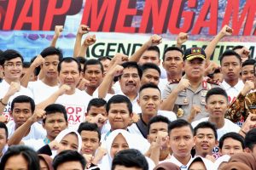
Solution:
[[[66,107],[68,126],[74,126],[84,122],[85,112],[90,99],[92,97],[89,94],[76,88],[74,94],[63,94],[55,103]]]

